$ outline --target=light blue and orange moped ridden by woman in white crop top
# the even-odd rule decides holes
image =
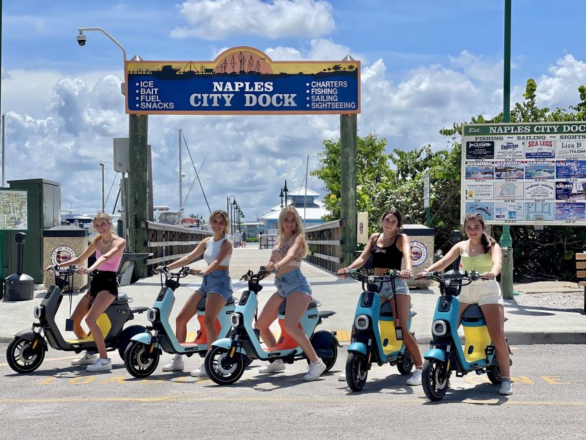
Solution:
[[[161,270],[161,290],[153,307],[148,309],[146,313],[150,326],[146,327],[144,333],[133,336],[124,352],[124,365],[126,365],[128,373],[134,377],[151,375],[157,369],[162,351],[187,355],[188,357],[196,353],[202,358],[205,356],[207,351],[205,326],[203,325],[205,298],[201,298],[197,305],[199,331],[193,341],[179,342],[169,322],[171,309],[175,302],[174,292],[180,285],[179,279],[185,278],[190,273],[189,267],[182,267],[179,272],[175,273],[168,272],[166,268]],[[165,276],[165,281],[163,281],[163,276]],[[237,301],[238,298],[234,296],[227,300],[216,319],[216,332],[221,338],[225,338],[230,331],[230,316],[234,313]]]

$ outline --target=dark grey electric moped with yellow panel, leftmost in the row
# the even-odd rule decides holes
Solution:
[[[17,373],[30,373],[38,369],[45,358],[47,351],[47,342],[56,350],[63,351],[98,351],[91,333],[84,339],[66,340],[59,330],[55,316],[61,301],[63,300],[63,291],[69,289],[69,301],[71,309],[71,286],[74,282],[76,266],[69,266],[60,269],[58,265],[53,268],[55,273],[55,285],[47,289],[41,304],[34,308],[34,317],[38,322],[34,322],[32,329],[16,333],[14,339],[8,344],[6,350],[6,360],[8,365]],[[132,298],[123,292],[118,292],[117,298],[109,307],[98,317],[98,327],[104,335],[106,349],[117,349],[118,353],[124,358],[124,349],[130,342],[131,338],[137,333],[145,331],[142,325],[131,325],[124,328],[127,321],[134,318],[134,314],[142,314],[148,310],[148,307],[129,307],[128,303]]]

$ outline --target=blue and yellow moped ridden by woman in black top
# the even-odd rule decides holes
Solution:
[[[392,270],[381,276],[374,272],[365,274],[362,270],[350,270],[345,274],[362,283],[363,292],[359,297],[356,313],[354,314],[354,336],[348,347],[346,358],[346,382],[352,391],[361,391],[366,384],[368,370],[373,362],[382,366],[391,364],[397,367],[402,375],[409,374],[414,362],[405,351],[403,344],[403,329],[395,327],[393,321],[392,298],[383,303],[379,292],[383,283],[391,283],[393,297],[395,296],[395,279],[399,276],[397,270]],[[395,309],[396,309],[396,298]],[[407,331],[411,329],[411,320],[417,313],[409,310]],[[403,324],[403,323],[401,323]]]

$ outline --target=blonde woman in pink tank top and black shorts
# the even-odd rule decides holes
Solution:
[[[74,333],[79,339],[87,338],[87,333],[81,327],[81,320],[85,316],[85,322],[95,340],[100,356],[96,353],[86,352],[78,360],[71,362],[73,365],[87,365],[87,371],[110,371],[112,362],[106,353],[104,336],[96,320],[111,305],[118,295],[117,270],[126,248],[126,240],[113,234],[112,219],[105,212],[93,217],[92,229],[98,235],[89,243],[87,250],[80,256],[60,263],[60,267],[78,265],[84,263],[95,252],[95,263],[90,267],[80,265],[77,272],[80,274],[93,273],[89,291],[80,299],[71,318],[74,320]],[[52,267],[47,267],[47,270]],[[46,272],[46,270],[45,270]]]

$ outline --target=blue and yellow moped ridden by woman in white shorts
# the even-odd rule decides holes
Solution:
[[[438,281],[441,293],[431,325],[433,340],[423,355],[421,384],[427,398],[437,401],[444,397],[452,371],[456,377],[463,377],[471,371],[478,375],[486,373],[493,384],[500,384],[501,370],[480,306],[469,305],[462,314],[464,348],[458,336],[460,302],[457,297],[462,286],[486,278],[477,272],[462,273],[460,270],[450,270],[443,275],[431,272],[425,277]]]

